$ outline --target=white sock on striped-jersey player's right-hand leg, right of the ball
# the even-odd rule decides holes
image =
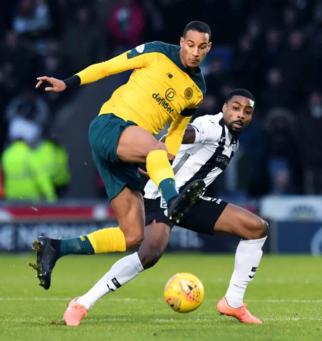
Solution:
[[[263,251],[262,247],[267,237],[252,241],[241,240],[235,256],[235,267],[230,279],[225,298],[232,308],[243,305],[243,298],[249,282],[253,280],[260,264]]]

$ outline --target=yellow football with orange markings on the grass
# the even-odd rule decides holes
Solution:
[[[186,272],[174,275],[165,288],[166,302],[177,312],[197,309],[204,296],[205,290],[199,278]]]

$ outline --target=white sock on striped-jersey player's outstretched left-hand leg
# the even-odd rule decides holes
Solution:
[[[91,309],[93,305],[110,291],[115,291],[143,271],[137,252],[118,260],[88,293],[77,298],[77,303]]]

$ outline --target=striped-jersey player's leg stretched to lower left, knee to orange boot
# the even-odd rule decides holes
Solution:
[[[89,309],[103,296],[134,279],[152,267],[168,245],[170,227],[155,220],[145,228],[143,243],[138,252],[118,260],[85,295],[72,300],[64,313],[67,325],[79,325]]]

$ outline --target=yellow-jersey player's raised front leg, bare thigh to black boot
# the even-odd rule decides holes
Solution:
[[[146,163],[151,180],[168,203],[169,220],[176,223],[179,223],[205,191],[204,181],[196,180],[187,185],[179,195],[166,145],[140,127],[131,126],[122,132],[117,146],[117,156],[123,162]]]

